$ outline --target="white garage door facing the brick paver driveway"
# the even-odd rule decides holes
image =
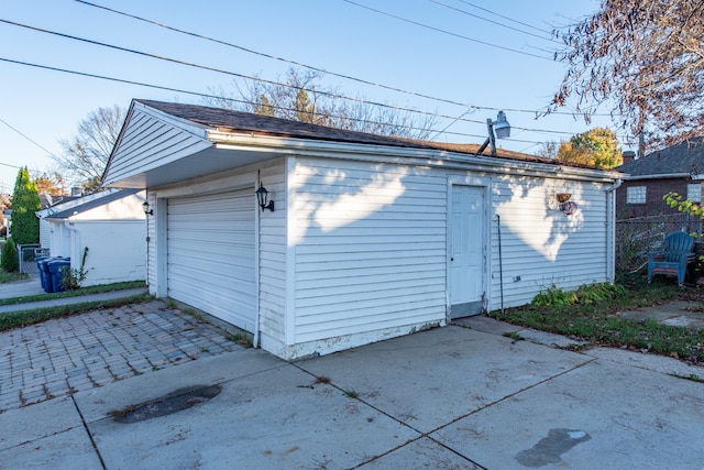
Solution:
[[[254,193],[168,199],[168,296],[254,330]]]

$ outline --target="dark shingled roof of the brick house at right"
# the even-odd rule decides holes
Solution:
[[[704,174],[704,138],[690,139],[616,167],[630,179]]]

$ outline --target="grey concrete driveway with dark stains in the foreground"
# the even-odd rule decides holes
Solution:
[[[7,408],[0,467],[704,468],[704,384],[671,375],[703,368],[512,329],[476,317],[295,363],[222,348]]]

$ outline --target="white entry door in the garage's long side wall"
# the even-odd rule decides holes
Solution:
[[[460,318],[484,307],[484,188],[452,186],[450,215],[450,317]]]

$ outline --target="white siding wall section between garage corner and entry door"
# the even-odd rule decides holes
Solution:
[[[308,159],[292,192],[296,343],[444,320],[443,175]]]

